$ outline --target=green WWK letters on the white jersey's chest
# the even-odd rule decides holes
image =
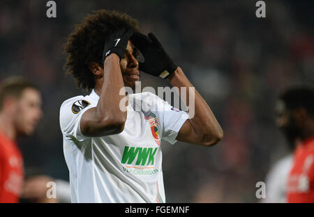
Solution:
[[[154,156],[156,154],[158,147],[152,148],[152,147],[124,147],[124,155],[122,156],[121,163],[131,164],[135,160],[135,156],[137,156],[136,165],[142,165],[144,166],[147,158],[148,162],[151,165],[154,165]]]

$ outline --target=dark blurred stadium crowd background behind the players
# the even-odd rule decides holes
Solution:
[[[256,202],[256,182],[287,153],[274,103],[284,88],[314,83],[313,1],[1,1],[0,80],[23,75],[43,94],[36,134],[19,140],[27,174],[68,179],[59,128],[61,103],[82,92],[65,77],[62,45],[93,10],[115,9],[154,32],[207,100],[225,137],[210,148],[163,143],[167,202]],[[142,87],[168,86],[142,74]]]

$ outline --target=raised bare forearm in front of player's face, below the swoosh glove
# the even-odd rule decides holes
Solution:
[[[121,111],[119,105],[123,97],[120,95],[124,82],[119,65],[119,56],[112,54],[105,59],[103,87],[100,92],[100,99],[96,113],[98,118],[114,118],[117,122],[126,121],[126,111]]]

